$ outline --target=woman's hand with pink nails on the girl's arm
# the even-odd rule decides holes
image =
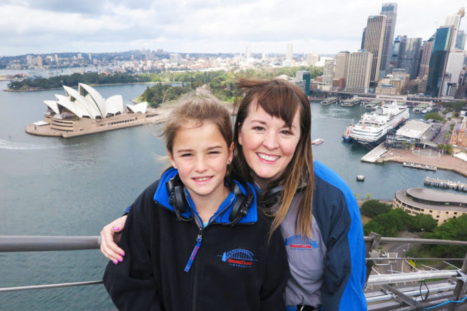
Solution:
[[[100,231],[100,251],[114,264],[123,261],[125,252],[117,246],[120,240],[119,232],[125,227],[126,215],[113,220]]]

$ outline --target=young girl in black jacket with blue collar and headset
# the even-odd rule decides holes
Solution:
[[[214,97],[188,97],[164,132],[172,168],[133,203],[104,285],[119,310],[284,310],[280,232],[251,185],[229,178],[231,117]]]

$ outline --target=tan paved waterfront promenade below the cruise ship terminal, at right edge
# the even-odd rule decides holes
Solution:
[[[422,154],[420,154],[422,153]],[[390,148],[379,159],[384,162],[415,162],[420,164],[433,165],[440,170],[449,170],[464,177],[467,177],[467,162],[452,155],[442,154],[438,155],[436,151],[431,151],[426,154],[426,149],[410,150],[410,149],[397,149]],[[433,156],[431,155],[432,153]],[[408,169],[408,168],[407,168]]]

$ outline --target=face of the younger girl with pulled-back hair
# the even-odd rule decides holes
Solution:
[[[193,200],[225,199],[224,178],[227,164],[232,161],[234,143],[227,146],[223,135],[213,122],[202,126],[188,122],[177,131],[172,152],[168,152],[172,166]]]

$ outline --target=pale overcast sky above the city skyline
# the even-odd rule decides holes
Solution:
[[[389,1],[388,1],[389,2]],[[374,0],[0,0],[0,56],[163,49],[337,54],[360,48]],[[396,33],[428,39],[465,0],[397,1]],[[467,16],[464,17],[467,19]],[[462,19],[461,30],[467,30]],[[467,32],[467,31],[466,31]]]

